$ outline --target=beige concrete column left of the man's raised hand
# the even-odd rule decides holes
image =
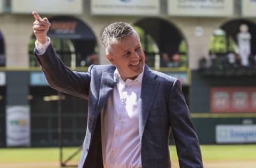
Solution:
[[[28,44],[33,33],[33,16],[5,15],[1,17],[0,22],[5,43],[6,67],[27,68]]]

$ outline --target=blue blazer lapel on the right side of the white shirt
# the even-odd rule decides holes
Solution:
[[[141,99],[140,99],[140,112],[139,112],[139,136],[140,140],[145,129],[148,115],[154,103],[155,96],[158,90],[159,81],[155,80],[157,75],[152,73],[147,65],[145,65],[142,86],[141,86]]]

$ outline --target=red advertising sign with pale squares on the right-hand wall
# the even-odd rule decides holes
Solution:
[[[256,87],[214,87],[211,112],[256,112]]]

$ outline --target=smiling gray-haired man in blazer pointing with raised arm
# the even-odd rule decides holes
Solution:
[[[203,167],[180,81],[150,70],[130,24],[112,23],[102,33],[112,65],[75,72],[62,63],[46,36],[47,18],[33,15],[35,54],[50,86],[89,101],[79,168],[171,167],[171,130],[180,167]]]

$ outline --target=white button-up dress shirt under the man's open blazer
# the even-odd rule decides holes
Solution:
[[[101,140],[104,168],[139,168],[141,144],[139,138],[140,92],[143,72],[125,82],[117,70],[117,85],[101,112]]]

